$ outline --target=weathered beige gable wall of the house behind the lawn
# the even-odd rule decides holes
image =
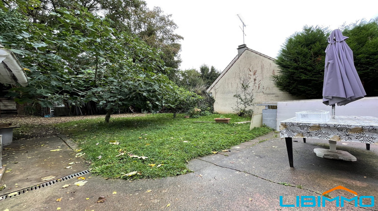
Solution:
[[[250,89],[253,91],[254,105],[248,109],[253,109],[254,114],[260,114],[265,109],[264,106],[256,104],[298,99],[287,92],[278,90],[275,86],[271,76],[278,74],[279,68],[273,62],[273,58],[248,49],[246,46],[245,49],[241,49],[243,51],[238,50],[239,55],[208,89],[215,98],[215,112],[235,113],[233,108],[236,107],[236,98],[233,95],[237,92],[241,93],[240,84],[243,81],[249,81]]]

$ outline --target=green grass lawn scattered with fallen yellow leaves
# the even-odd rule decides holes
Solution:
[[[135,118],[81,120],[57,125],[79,143],[91,171],[109,178],[158,178],[190,172],[186,163],[272,131],[249,130],[236,115],[230,124],[215,123],[219,115],[185,119],[184,115],[153,114]],[[205,122],[205,123],[196,123]],[[118,144],[119,143],[119,144]],[[133,172],[133,173],[131,173]],[[131,174],[129,174],[131,173]]]

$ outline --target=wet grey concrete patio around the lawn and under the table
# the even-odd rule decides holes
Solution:
[[[291,210],[296,196],[314,196],[339,185],[373,196],[373,207],[344,207],[326,201],[326,207],[300,207],[300,210],[378,210],[378,145],[367,151],[364,144],[338,143],[356,162],[317,157],[314,148],[328,148],[325,140],[300,139],[293,143],[294,168],[289,167],[285,141],[271,133],[242,143],[230,152],[190,161],[192,173],[162,179],[126,181],[104,179],[85,173],[87,183],[74,185],[79,176],[7,197],[0,201],[0,211],[13,210]],[[38,140],[19,140],[3,152],[3,164],[11,171],[1,181],[7,187],[0,195],[43,183],[41,178],[67,175],[87,170],[89,166],[69,140],[60,136]],[[295,140],[295,139],[294,139]],[[42,146],[43,145],[43,146]],[[23,147],[22,147],[23,146]],[[59,151],[50,151],[60,149]],[[68,165],[71,162],[75,164]],[[66,168],[71,166],[72,168]],[[68,187],[62,186],[69,184]],[[345,190],[329,193],[332,197],[354,195]],[[280,196],[282,202],[280,205]],[[100,200],[99,200],[99,197]],[[57,199],[60,201],[57,201]],[[306,198],[309,200],[309,198]],[[322,198],[321,198],[322,199]],[[313,203],[303,203],[313,204]],[[371,204],[369,198],[363,204]],[[301,203],[299,202],[299,205]]]

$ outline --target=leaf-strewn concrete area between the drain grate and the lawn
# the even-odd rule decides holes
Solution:
[[[3,151],[3,165],[7,170],[0,183],[7,187],[0,195],[48,181],[41,180],[44,177],[60,178],[88,170],[85,160],[75,155],[56,136],[13,141]]]

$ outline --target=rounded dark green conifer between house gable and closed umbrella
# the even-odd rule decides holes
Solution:
[[[273,76],[276,86],[296,96],[322,98],[327,31],[303,27],[290,36],[275,60],[280,74]]]

